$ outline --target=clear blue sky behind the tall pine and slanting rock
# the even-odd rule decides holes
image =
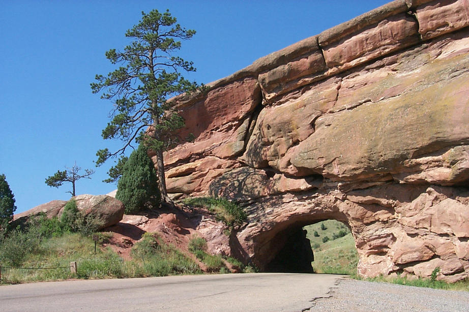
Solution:
[[[90,83],[113,70],[104,52],[127,44],[124,33],[141,11],[169,9],[197,30],[180,56],[197,68],[188,78],[209,83],[387,2],[0,0],[0,174],[15,195],[16,213],[68,200],[70,183],[55,189],[44,180],[75,161],[96,170],[77,182],[77,194],[116,188],[101,182],[113,160],[93,163],[98,149],[121,143],[101,138],[112,104],[93,95]]]

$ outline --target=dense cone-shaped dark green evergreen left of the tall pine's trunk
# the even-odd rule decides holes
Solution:
[[[159,206],[161,201],[155,165],[140,144],[124,165],[118,182],[116,199],[122,201],[126,213]]]

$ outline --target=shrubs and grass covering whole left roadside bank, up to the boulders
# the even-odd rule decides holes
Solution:
[[[201,273],[194,261],[156,234],[143,235],[132,247],[132,260],[123,260],[110,247],[103,246],[112,233],[94,232],[93,222],[83,219],[75,209],[76,205],[70,201],[60,220],[40,215],[3,237],[0,241],[2,283]],[[93,234],[99,237],[96,254]],[[77,262],[76,273],[70,270],[72,261]]]

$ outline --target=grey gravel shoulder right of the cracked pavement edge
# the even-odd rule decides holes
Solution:
[[[469,292],[341,279],[310,311],[469,311]]]

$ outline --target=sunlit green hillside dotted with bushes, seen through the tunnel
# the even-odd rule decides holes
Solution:
[[[306,226],[304,229],[308,231],[306,237],[311,241],[314,253],[314,261],[311,264],[315,272],[357,274],[358,254],[355,240],[343,223],[327,220]],[[314,236],[314,232],[319,236]],[[344,232],[346,234],[343,237],[338,237]]]

